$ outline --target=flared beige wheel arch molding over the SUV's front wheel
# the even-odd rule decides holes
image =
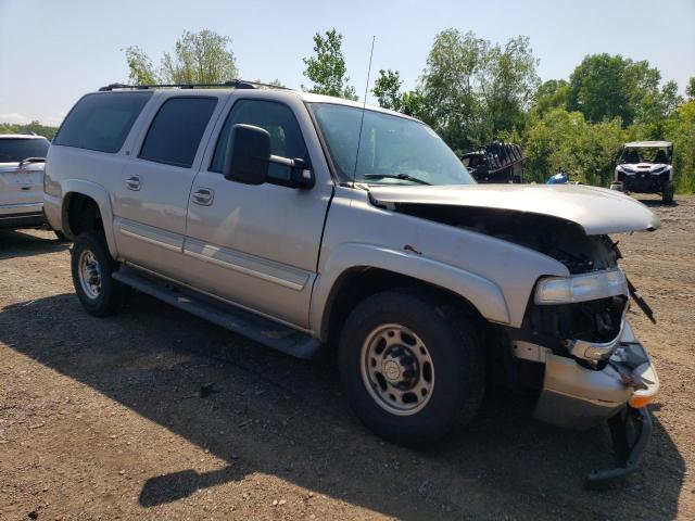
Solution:
[[[312,330],[323,330],[324,314],[336,282],[356,267],[380,268],[438,285],[468,300],[488,320],[510,321],[504,294],[491,280],[417,253],[374,244],[345,243],[331,251],[314,284],[309,308]]]

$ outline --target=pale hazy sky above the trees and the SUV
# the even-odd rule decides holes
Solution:
[[[502,45],[530,37],[542,80],[599,52],[647,60],[681,92],[695,76],[695,0],[0,0],[0,122],[58,125],[84,93],[127,80],[126,47],[156,63],[185,29],[231,37],[241,78],[300,88],[313,35],[332,27],[361,99],[372,35],[372,80],[392,68],[408,89],[450,27]]]

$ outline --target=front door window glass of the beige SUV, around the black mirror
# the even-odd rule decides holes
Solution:
[[[270,135],[270,153],[289,158],[302,158],[308,163],[308,153],[299,123],[289,106],[274,101],[239,100],[237,101],[219,132],[215,153],[210,164],[211,171],[222,173],[227,155],[227,141],[231,128],[239,124],[261,127]],[[290,168],[270,163],[268,177],[289,179]]]

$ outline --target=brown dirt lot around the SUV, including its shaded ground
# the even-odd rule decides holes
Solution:
[[[695,198],[677,199],[647,201],[661,230],[620,238],[659,320],[630,314],[662,390],[643,468],[610,492],[582,488],[610,462],[605,429],[495,395],[443,444],[392,446],[351,415],[330,359],[143,295],[91,318],[66,244],[0,231],[0,519],[695,519]]]

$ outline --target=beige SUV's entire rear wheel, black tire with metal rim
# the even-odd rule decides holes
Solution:
[[[105,317],[118,310],[125,289],[111,277],[117,263],[111,257],[103,234],[88,231],[75,239],[71,268],[75,293],[87,313]]]

